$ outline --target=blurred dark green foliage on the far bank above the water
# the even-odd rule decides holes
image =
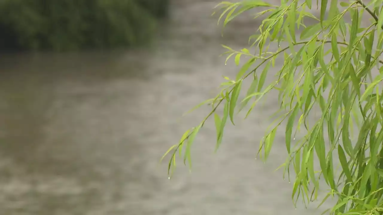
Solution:
[[[0,49],[80,50],[149,41],[168,0],[0,0]]]

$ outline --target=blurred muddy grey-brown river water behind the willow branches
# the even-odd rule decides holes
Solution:
[[[268,162],[254,159],[276,93],[228,124],[215,154],[208,121],[191,173],[179,160],[169,180],[158,162],[210,109],[182,114],[238,70],[219,57],[220,44],[246,47],[259,24],[242,16],[221,37],[210,16],[217,2],[174,2],[155,50],[2,56],[1,214],[320,214],[314,205],[295,209],[292,183],[274,171],[286,156],[283,129]]]

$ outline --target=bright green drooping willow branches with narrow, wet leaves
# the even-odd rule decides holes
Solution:
[[[241,111],[251,102],[248,116],[265,94],[276,90],[280,109],[285,112],[278,114],[277,125],[261,140],[258,154],[268,158],[277,129],[285,125],[288,157],[281,168],[284,168],[283,178],[287,172],[290,180],[291,168],[296,173],[292,192],[294,204],[299,197],[305,205],[317,200],[319,180],[323,179],[329,193],[319,206],[330,196],[338,199],[337,204],[325,212],[381,214],[383,88],[380,83],[383,62],[379,58],[383,52],[382,5],[382,0],[372,0],[368,4],[360,0],[321,0],[316,3],[281,0],[280,5],[260,0],[221,2],[217,7],[223,11],[219,21],[223,20],[224,26],[244,11],[266,8],[255,17],[266,16],[257,34],[249,39],[250,47],[257,49],[257,54],[251,54],[246,48],[237,51],[224,46],[228,49],[226,61],[235,56],[234,61],[239,65],[242,56],[247,55],[250,59],[239,69],[235,79],[225,77],[227,81],[222,83],[223,89],[215,98],[205,101],[210,103],[212,111],[203,122],[188,130],[167,152],[173,151],[169,170],[173,169],[172,162],[175,164],[176,151],[191,167],[190,146],[210,116],[214,116],[218,148],[228,119],[234,124],[236,108]],[[313,7],[320,8],[320,17],[310,13],[309,9]],[[367,27],[361,24],[365,13],[372,17]],[[317,22],[306,26],[305,19]],[[270,51],[272,44],[278,45],[277,51]],[[277,68],[275,61],[278,57],[283,57],[283,66],[272,74],[275,77],[272,83],[264,86],[269,68]],[[264,66],[263,70],[259,70],[261,66]],[[377,74],[373,72],[374,68],[379,71]],[[246,78],[252,79],[252,84],[246,97],[239,101],[242,82]],[[215,112],[219,105],[224,106],[223,116]],[[320,109],[320,118],[309,125],[308,117],[316,106]],[[354,130],[354,126],[358,129]],[[306,135],[292,145],[291,140],[300,130]],[[354,134],[357,134],[356,138],[353,138]],[[335,165],[337,161],[339,172]],[[316,162],[320,168],[315,168]]]

